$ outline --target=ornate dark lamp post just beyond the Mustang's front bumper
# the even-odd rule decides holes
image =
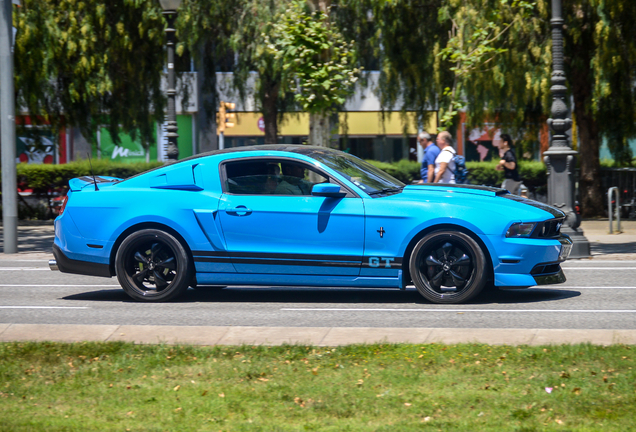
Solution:
[[[548,202],[566,214],[562,232],[574,242],[570,258],[590,256],[590,243],[579,228],[581,217],[575,210],[574,172],[578,152],[570,146],[567,131],[572,127],[566,103],[567,87],[563,68],[563,17],[561,0],[552,0],[552,108],[548,126],[552,131],[550,148],[543,153],[548,168]]]

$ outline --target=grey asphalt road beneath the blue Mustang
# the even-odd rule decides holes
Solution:
[[[41,254],[40,254],[41,255]],[[0,261],[0,323],[258,327],[636,329],[636,261],[568,261],[568,281],[435,305],[410,288],[203,288],[131,301],[117,280],[52,272],[42,256]]]

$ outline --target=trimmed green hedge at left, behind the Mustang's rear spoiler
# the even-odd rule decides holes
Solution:
[[[119,163],[104,159],[92,161],[92,172],[119,178],[128,178],[152,168],[161,166],[161,162]],[[33,189],[36,194],[46,194],[50,189],[66,188],[70,179],[90,176],[91,167],[87,160],[71,162],[63,165],[17,165],[18,185],[25,189]]]

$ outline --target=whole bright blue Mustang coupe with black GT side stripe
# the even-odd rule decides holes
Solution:
[[[565,281],[560,210],[496,188],[408,185],[323,147],[214,151],[122,180],[69,183],[54,270],[133,299],[200,285],[400,288],[461,303],[484,286]]]

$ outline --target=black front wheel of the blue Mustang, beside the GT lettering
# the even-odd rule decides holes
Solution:
[[[434,231],[411,254],[409,270],[415,287],[434,303],[463,303],[486,282],[486,257],[477,242],[458,231]]]

